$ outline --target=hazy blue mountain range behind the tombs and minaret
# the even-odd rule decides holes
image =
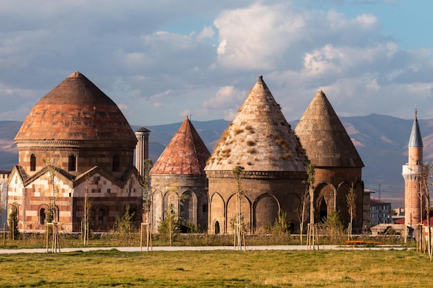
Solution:
[[[407,142],[413,119],[400,119],[387,115],[371,114],[357,117],[340,117],[344,128],[355,144],[362,161],[362,180],[365,189],[375,193],[372,198],[391,202],[393,207],[404,204],[405,182],[402,165],[407,163]],[[290,122],[294,129],[298,121]],[[230,122],[219,119],[205,122],[192,121],[203,142],[212,150]],[[424,161],[433,160],[433,119],[418,119],[423,135]],[[10,170],[18,162],[14,137],[22,122],[0,121],[0,170]],[[149,134],[149,157],[154,162],[181,126],[174,124],[145,126]],[[133,131],[141,126],[132,125]]]

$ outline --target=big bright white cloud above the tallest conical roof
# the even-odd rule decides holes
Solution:
[[[219,30],[220,64],[228,68],[272,69],[291,45],[291,33],[304,25],[287,6],[253,4],[226,10],[214,20]]]

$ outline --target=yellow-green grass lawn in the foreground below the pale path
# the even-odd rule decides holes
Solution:
[[[432,287],[413,250],[0,255],[0,287]]]

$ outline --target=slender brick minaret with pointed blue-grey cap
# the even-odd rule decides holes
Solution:
[[[405,178],[405,224],[415,227],[421,222],[421,200],[419,173],[423,169],[423,138],[418,126],[417,112],[415,108],[415,121],[407,144],[409,161],[403,165],[403,177]]]

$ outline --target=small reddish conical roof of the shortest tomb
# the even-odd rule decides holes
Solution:
[[[208,148],[190,119],[186,118],[155,162],[151,174],[205,175]]]

